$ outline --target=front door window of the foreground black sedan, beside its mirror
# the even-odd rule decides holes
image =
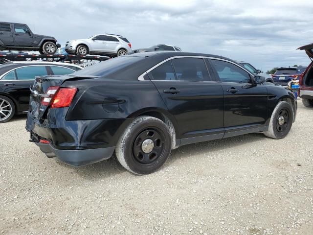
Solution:
[[[249,74],[238,66],[222,60],[211,61],[221,82],[252,83]]]

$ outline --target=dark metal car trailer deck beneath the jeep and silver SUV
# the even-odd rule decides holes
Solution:
[[[28,59],[28,60],[27,60]],[[23,55],[23,54],[0,54],[0,63],[7,63],[12,61],[36,61],[39,59],[46,59],[48,62],[67,62],[73,64],[83,64],[84,60],[96,60],[96,61],[105,61],[111,59],[108,56],[99,56],[99,55]],[[56,60],[55,60],[56,59]]]

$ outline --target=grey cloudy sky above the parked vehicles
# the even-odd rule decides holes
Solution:
[[[62,46],[98,33],[133,49],[164,43],[272,67],[308,65],[312,0],[1,0],[0,20],[28,24]]]

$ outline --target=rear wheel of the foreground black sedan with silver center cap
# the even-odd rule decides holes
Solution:
[[[171,148],[168,126],[158,118],[140,116],[126,128],[117,142],[115,153],[127,170],[144,175],[158,170],[168,159]]]

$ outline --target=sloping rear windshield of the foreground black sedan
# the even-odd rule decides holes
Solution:
[[[84,76],[105,76],[118,70],[122,70],[127,66],[130,66],[144,57],[136,56],[120,56],[106,61],[102,61],[96,65],[87,67],[86,69],[72,73],[73,75]]]

